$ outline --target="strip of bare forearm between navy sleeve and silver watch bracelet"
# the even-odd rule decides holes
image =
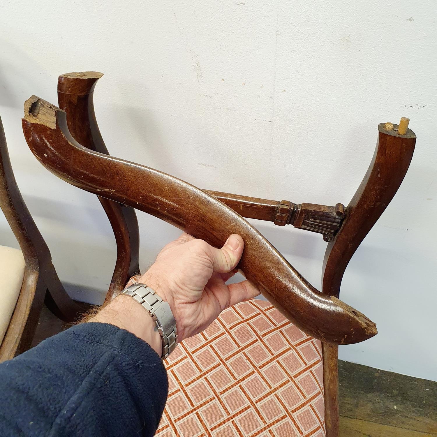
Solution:
[[[162,340],[155,321],[130,296],[118,295],[88,321],[110,323],[125,329],[148,343],[159,356],[162,355]]]

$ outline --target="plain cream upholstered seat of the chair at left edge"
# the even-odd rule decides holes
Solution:
[[[21,250],[0,246],[0,344],[17,304],[24,277]]]

